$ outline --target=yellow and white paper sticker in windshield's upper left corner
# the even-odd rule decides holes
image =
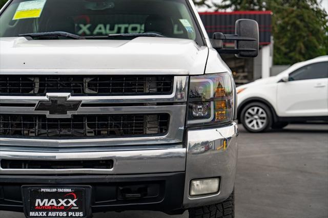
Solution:
[[[19,3],[16,13],[12,19],[15,20],[40,17],[46,1],[47,0],[35,0]]]

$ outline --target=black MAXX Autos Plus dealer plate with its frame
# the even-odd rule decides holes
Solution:
[[[88,215],[90,215],[90,213],[91,213],[91,210],[90,210],[90,208],[91,208],[91,186],[87,186],[87,185],[23,185],[21,187],[21,190],[22,190],[24,213],[27,218],[35,218],[35,217],[87,218]],[[67,195],[67,196],[65,197],[65,195]],[[34,206],[36,207],[36,198],[39,199],[38,206],[40,206],[40,205],[43,206],[40,209],[33,208]],[[59,198],[60,198],[60,200],[59,200]],[[45,201],[45,199],[47,199],[47,201]],[[52,199],[54,199],[55,201],[53,201]],[[73,204],[72,204],[72,201],[73,201]],[[55,203],[55,205],[54,205],[54,203]],[[64,205],[68,205],[68,206],[64,206]],[[75,205],[78,207],[78,209],[76,209]],[[49,206],[51,207],[51,209],[47,208]],[[63,206],[64,206],[64,208],[63,208]],[[69,208],[70,206],[72,206],[72,207]],[[56,208],[53,208],[53,207],[56,207]],[[36,213],[36,212],[38,212],[38,213]],[[49,216],[49,212],[58,212],[58,213],[55,213],[55,215],[52,213],[51,216]],[[64,212],[66,212],[66,214]],[[75,212],[75,213],[69,213],[69,212]],[[80,212],[82,212],[83,214],[80,214]],[[56,215],[56,214],[58,214],[58,215]],[[70,216],[69,216],[69,214],[70,214]],[[64,216],[64,215],[66,215],[66,216]]]

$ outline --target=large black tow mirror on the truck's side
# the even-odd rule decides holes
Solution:
[[[234,40],[234,49],[224,49],[223,40]],[[258,24],[252,19],[238,19],[235,34],[213,34],[213,47],[222,54],[235,54],[236,57],[256,57],[258,55],[259,33]]]

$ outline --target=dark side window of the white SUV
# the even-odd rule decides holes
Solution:
[[[297,69],[289,76],[290,81],[328,78],[328,61],[309,64]]]

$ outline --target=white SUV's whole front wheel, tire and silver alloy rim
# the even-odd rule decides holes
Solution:
[[[240,121],[248,132],[265,132],[272,126],[272,113],[263,103],[249,103],[242,109]]]

